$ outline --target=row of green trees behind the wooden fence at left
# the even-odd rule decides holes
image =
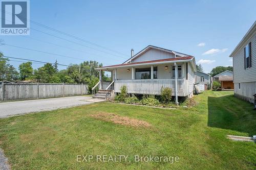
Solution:
[[[11,65],[8,58],[0,53],[0,81],[11,82],[29,81],[33,83],[74,83],[87,84],[89,91],[99,81],[99,72],[95,70],[102,63],[97,61],[84,61],[80,64],[70,64],[66,69],[58,70],[58,63],[46,63],[37,69],[32,67],[32,62],[24,62],[18,66],[18,70]],[[111,78],[102,74],[103,81],[111,81]]]

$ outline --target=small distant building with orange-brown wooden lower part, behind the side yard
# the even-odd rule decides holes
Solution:
[[[221,83],[221,90],[233,90],[233,72],[226,70],[221,72],[219,75],[214,76],[214,81]]]

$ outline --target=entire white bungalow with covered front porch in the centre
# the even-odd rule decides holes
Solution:
[[[132,94],[160,95],[162,87],[172,89],[173,96],[191,98],[195,83],[195,57],[148,45],[122,64],[96,68],[100,72],[100,81],[93,88],[99,87],[95,98],[105,98],[104,90],[120,92],[125,85],[127,92]],[[112,82],[102,81],[102,71],[110,71]],[[176,90],[177,89],[177,90]],[[105,96],[104,96],[105,95]]]

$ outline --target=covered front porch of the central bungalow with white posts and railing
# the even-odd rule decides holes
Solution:
[[[128,93],[152,95],[160,95],[161,89],[168,87],[172,89],[172,95],[178,104],[178,96],[193,94],[193,76],[190,70],[189,62],[102,68],[98,70],[98,87],[100,92],[112,90],[116,94],[125,85]],[[112,82],[102,81],[103,71],[111,72]],[[108,94],[105,96],[108,98]]]

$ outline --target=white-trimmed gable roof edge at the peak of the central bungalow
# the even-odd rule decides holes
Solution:
[[[167,52],[167,53],[172,53],[172,54],[175,54],[175,55],[178,55],[178,56],[181,56],[181,57],[190,56],[190,55],[179,53],[179,52],[175,52],[175,51],[172,51],[172,50],[167,50],[165,48],[161,48],[161,47],[158,47],[158,46],[148,45],[143,50],[141,50],[139,53],[135,54],[133,57],[131,57],[130,59],[128,59],[125,62],[123,62],[123,64],[129,63],[130,61],[134,60],[135,58],[139,57],[140,55],[142,55],[143,53],[147,52],[148,50],[150,50],[152,48],[156,49],[156,50],[161,50],[161,51],[164,51],[164,52]]]

